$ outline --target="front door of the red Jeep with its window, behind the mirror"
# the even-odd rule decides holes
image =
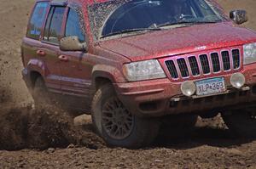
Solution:
[[[78,8],[68,9],[65,37],[77,36],[80,42],[85,42],[85,29],[81,17],[82,14],[79,14]],[[85,99],[90,97],[92,66],[87,60],[88,56],[89,54],[84,52],[60,51],[62,93]]]

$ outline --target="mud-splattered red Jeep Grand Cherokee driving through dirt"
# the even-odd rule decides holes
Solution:
[[[246,21],[214,0],[38,0],[22,73],[36,106],[55,93],[90,111],[113,146],[142,147],[164,121],[191,127],[219,112],[230,130],[256,133],[256,33],[238,26]]]

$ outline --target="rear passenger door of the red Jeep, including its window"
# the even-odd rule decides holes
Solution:
[[[59,43],[62,37],[61,25],[64,20],[66,8],[52,6],[44,27],[42,45],[38,48],[38,54],[44,57],[45,84],[49,91],[61,93],[61,61],[59,57]]]

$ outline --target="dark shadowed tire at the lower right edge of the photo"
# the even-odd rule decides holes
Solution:
[[[249,110],[235,110],[222,114],[224,122],[230,129],[231,136],[256,138],[256,114]]]

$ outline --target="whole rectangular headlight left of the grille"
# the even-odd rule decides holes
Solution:
[[[129,82],[166,77],[164,70],[156,59],[126,64],[124,65],[124,74]]]

